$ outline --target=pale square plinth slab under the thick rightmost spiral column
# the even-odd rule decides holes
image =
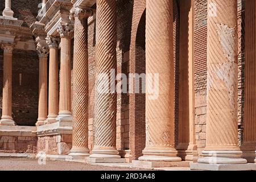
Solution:
[[[203,164],[191,163],[191,170],[204,171],[256,171],[256,164]]]

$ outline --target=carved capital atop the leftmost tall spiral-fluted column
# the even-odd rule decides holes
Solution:
[[[93,10],[89,7],[81,7],[77,6],[73,10],[71,10],[69,19],[73,20],[75,17],[82,20],[83,18],[89,18],[93,15]]]

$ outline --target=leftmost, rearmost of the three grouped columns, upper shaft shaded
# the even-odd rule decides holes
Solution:
[[[39,102],[38,102],[38,122],[36,126],[44,125],[47,119],[47,57],[49,49],[46,45],[38,43],[39,56]]]

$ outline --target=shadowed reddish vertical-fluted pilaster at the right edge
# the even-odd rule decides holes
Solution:
[[[246,0],[245,8],[245,109],[242,150],[250,162],[256,147],[256,1]],[[255,160],[256,162],[256,160]]]

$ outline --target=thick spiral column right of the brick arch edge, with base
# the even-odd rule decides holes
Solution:
[[[146,6],[146,148],[140,161],[177,162],[174,148],[175,73],[172,0]],[[150,92],[152,85],[159,93]],[[154,76],[155,75],[155,76]],[[154,77],[159,76],[159,85]],[[155,94],[155,97],[152,97]]]

